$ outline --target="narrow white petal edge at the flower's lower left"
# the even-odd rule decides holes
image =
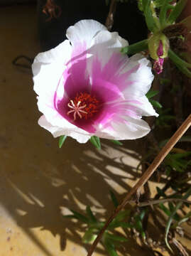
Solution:
[[[51,132],[53,134],[53,137],[60,137],[62,135],[67,135],[76,139],[77,142],[80,142],[80,143],[86,143],[90,139],[89,135],[80,134],[78,132],[75,132],[74,130],[67,129],[66,127],[62,128],[62,127],[53,126],[52,124],[50,124],[50,122],[47,121],[47,119],[45,118],[45,115],[41,116],[40,119],[38,119],[38,124],[40,125],[40,127],[43,127],[44,129],[47,129],[49,132]]]

